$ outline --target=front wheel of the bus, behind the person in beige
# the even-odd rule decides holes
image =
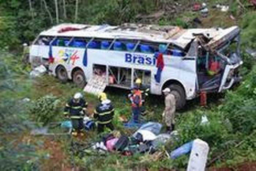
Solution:
[[[182,109],[186,104],[186,95],[183,87],[178,84],[171,84],[168,87],[170,88],[171,93],[175,96],[176,109]]]

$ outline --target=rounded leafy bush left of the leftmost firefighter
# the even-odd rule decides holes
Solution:
[[[59,103],[60,100],[53,95],[38,98],[31,105],[30,114],[35,121],[43,122],[45,125],[60,113]]]

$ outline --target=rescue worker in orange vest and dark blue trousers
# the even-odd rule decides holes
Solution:
[[[142,93],[138,86],[133,87],[132,93],[128,95],[132,103],[133,122],[139,123],[142,107]]]

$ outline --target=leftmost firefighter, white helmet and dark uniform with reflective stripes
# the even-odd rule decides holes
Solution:
[[[77,136],[78,133],[83,136],[83,117],[86,114],[87,106],[88,104],[80,92],[76,93],[65,106],[64,114],[71,119],[72,135],[74,136]]]

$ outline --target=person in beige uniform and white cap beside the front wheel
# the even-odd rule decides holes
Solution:
[[[167,132],[170,133],[174,130],[174,118],[176,110],[176,99],[171,93],[170,88],[165,88],[163,90],[165,96],[165,110],[163,111],[163,120],[166,124]]]

